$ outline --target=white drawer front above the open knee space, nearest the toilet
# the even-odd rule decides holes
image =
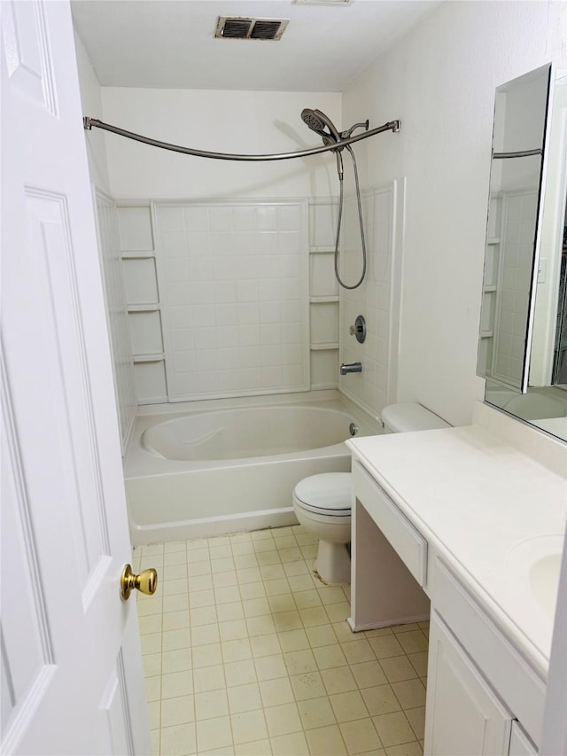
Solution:
[[[360,462],[353,462],[354,495],[420,586],[427,581],[427,541]]]

